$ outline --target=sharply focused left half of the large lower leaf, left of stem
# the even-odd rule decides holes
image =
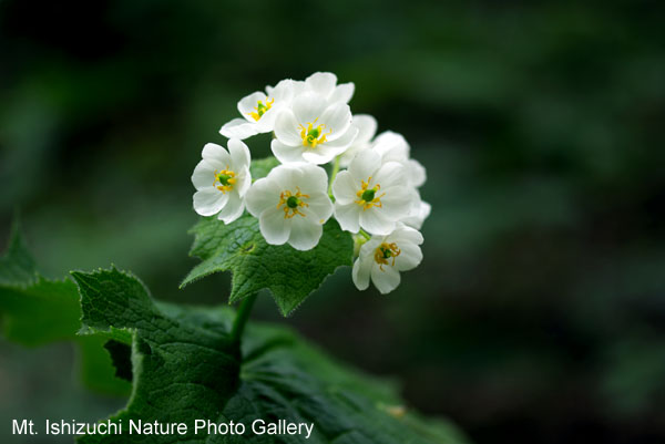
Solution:
[[[127,407],[112,417],[190,422],[216,420],[238,384],[239,348],[227,326],[206,328],[204,318],[184,318],[153,303],[130,273],[111,270],[72,272],[81,292],[82,322],[88,334],[131,332],[134,391]],[[183,441],[194,440],[193,430]],[[90,435],[84,443],[124,443],[126,436]],[[143,442],[134,436],[134,442]],[[173,436],[149,442],[173,442]]]

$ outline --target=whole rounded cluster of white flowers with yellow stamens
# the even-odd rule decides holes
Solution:
[[[316,247],[324,224],[335,217],[354,234],[356,287],[365,290],[371,280],[387,293],[399,285],[400,271],[422,259],[418,230],[431,207],[418,188],[426,172],[410,157],[405,137],[376,135],[372,116],[351,114],[354,90],[332,73],[317,72],[243,97],[241,117],[219,131],[228,149],[203,148],[192,176],[194,209],[231,224],[247,208],[268,244],[297,250]],[[242,141],[260,133],[273,133],[270,148],[280,165],[253,182]]]

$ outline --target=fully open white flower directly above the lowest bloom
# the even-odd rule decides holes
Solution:
[[[337,174],[332,183],[335,217],[342,229],[387,235],[396,223],[410,214],[418,198],[408,174],[398,162],[381,163],[374,149],[360,152],[349,169]]]

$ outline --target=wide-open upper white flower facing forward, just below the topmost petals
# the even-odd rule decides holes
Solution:
[[[277,116],[270,147],[284,164],[326,164],[348,148],[357,134],[349,105],[328,105],[324,96],[306,92]]]

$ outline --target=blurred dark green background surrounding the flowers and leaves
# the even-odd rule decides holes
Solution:
[[[196,264],[201,148],[225,142],[243,95],[332,71],[356,83],[354,112],[428,167],[426,259],[389,296],[342,269],[291,318],[267,296],[255,317],[398,379],[410,406],[478,444],[663,443],[664,12],[1,0],[1,242],[18,208],[51,277],[113,262],[157,298],[225,302],[228,276],[177,289]],[[86,393],[75,359],[0,341],[3,433],[10,417],[94,420],[124,403]]]

